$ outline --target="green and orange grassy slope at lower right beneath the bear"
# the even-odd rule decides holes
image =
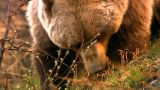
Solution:
[[[72,87],[73,90],[116,90],[116,89],[154,89],[150,83],[157,76],[160,67],[160,40],[151,43],[149,49],[128,65],[120,65],[108,69],[103,76],[96,77],[96,81],[90,81],[91,89],[83,89],[83,86]],[[95,78],[95,77],[94,77]],[[81,83],[81,82],[80,82]],[[159,83],[159,81],[158,81]],[[100,86],[99,86],[100,84]],[[160,84],[158,84],[160,85]],[[97,87],[97,89],[95,89]],[[72,90],[71,89],[71,90]],[[70,90],[70,87],[67,89]]]

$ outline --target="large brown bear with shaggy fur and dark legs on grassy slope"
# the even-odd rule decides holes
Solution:
[[[33,60],[43,90],[50,81],[65,88],[66,78],[81,58],[89,73],[110,61],[131,60],[150,39],[154,0],[31,0],[27,19],[33,37]],[[93,44],[93,46],[91,46]],[[86,50],[97,65],[87,65]],[[90,49],[89,49],[90,50]],[[86,59],[86,60],[84,60]]]

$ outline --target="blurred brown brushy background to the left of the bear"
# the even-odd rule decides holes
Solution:
[[[5,39],[5,51],[0,68],[0,90],[8,85],[18,82],[30,71],[31,43],[27,21],[25,19],[26,2],[28,0],[10,0],[11,20],[9,21],[9,34]],[[6,32],[8,13],[8,0],[0,0],[0,39]]]

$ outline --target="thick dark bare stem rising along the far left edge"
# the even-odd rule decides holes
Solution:
[[[8,38],[8,33],[9,33],[9,30],[10,30],[10,21],[11,21],[10,0],[7,0],[7,2],[8,2],[8,12],[7,12],[7,19],[6,19],[6,30],[5,30],[3,38],[0,39],[0,67],[1,67],[1,62],[2,62],[2,59],[3,59],[5,40]]]

